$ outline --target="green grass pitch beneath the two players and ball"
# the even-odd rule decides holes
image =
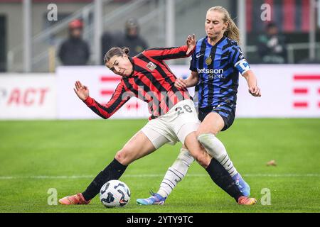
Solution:
[[[106,209],[98,196],[88,206],[49,206],[48,189],[58,199],[82,192],[145,120],[0,121],[1,212],[319,212],[320,121],[243,119],[218,137],[242,177],[255,206],[239,206],[211,182],[196,162],[164,206],[138,206],[136,199],[159,188],[180,144],[164,145],[137,160],[120,178],[132,192],[124,208]],[[267,166],[276,160],[277,166]],[[42,177],[41,177],[42,176]],[[262,205],[262,189],[271,204]]]

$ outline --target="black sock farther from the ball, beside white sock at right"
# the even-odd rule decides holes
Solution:
[[[213,158],[206,170],[211,179],[213,179],[213,182],[238,202],[239,197],[243,196],[243,194],[240,192],[240,189],[235,184],[229,172],[225,170],[225,167]]]

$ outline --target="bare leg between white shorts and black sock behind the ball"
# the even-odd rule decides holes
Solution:
[[[142,131],[139,131],[117,152],[116,159],[122,163],[122,165],[129,165],[134,162],[134,160],[149,155],[154,152],[154,150],[156,150],[156,148],[149,138],[146,137]]]

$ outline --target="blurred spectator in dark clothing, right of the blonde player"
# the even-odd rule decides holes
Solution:
[[[258,52],[262,57],[262,63],[284,64],[287,62],[285,39],[279,34],[275,23],[268,23],[266,34],[259,36]]]

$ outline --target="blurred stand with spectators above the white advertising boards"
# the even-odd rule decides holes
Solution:
[[[263,4],[271,9],[267,21]],[[206,10],[216,5],[238,24],[245,21],[241,45],[251,64],[320,63],[316,0],[0,0],[0,72],[103,65],[112,46],[127,46],[134,56],[149,47],[183,45],[190,33],[205,36]],[[186,60],[173,62],[181,63]]]

